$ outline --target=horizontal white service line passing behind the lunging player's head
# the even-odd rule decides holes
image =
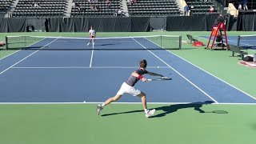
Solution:
[[[138,66],[56,66],[56,67],[11,67],[11,69],[134,69]],[[169,69],[168,66],[147,66],[149,69]]]

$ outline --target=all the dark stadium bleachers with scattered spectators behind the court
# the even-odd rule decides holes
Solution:
[[[116,17],[120,16],[178,16],[183,7],[178,0],[1,0],[0,13],[12,17]],[[218,14],[213,0],[186,0],[191,14]],[[74,2],[72,5],[71,3]],[[15,5],[14,5],[15,3]],[[210,13],[210,6],[214,12]]]

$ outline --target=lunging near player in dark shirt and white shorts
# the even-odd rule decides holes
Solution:
[[[161,74],[155,74],[155,73],[147,71],[146,65],[147,65],[147,63],[146,63],[145,59],[140,61],[138,70],[135,70],[130,75],[130,78],[128,78],[128,80],[126,82],[122,83],[122,86],[121,86],[120,90],[118,90],[118,93],[114,97],[107,99],[106,102],[97,105],[96,112],[98,115],[104,106],[110,104],[111,102],[117,101],[119,98],[122,97],[122,94],[132,94],[134,96],[138,96],[139,98],[142,98],[142,106],[145,110],[146,118],[148,118],[154,114],[154,112],[155,112],[154,109],[153,110],[147,109],[146,94],[144,94],[141,90],[138,90],[134,87],[135,83],[138,82],[139,79],[142,79],[143,82],[147,81],[147,79],[144,78],[142,76],[142,74],[149,74],[149,75],[153,75],[153,76],[163,77]]]

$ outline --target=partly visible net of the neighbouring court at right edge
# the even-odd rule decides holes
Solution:
[[[238,35],[237,46],[242,49],[256,49],[256,34],[254,35]]]

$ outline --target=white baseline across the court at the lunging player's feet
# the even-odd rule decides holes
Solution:
[[[102,102],[0,102],[0,105],[69,105],[69,104],[98,104]],[[113,104],[138,104],[142,102],[112,102]],[[203,104],[206,102],[147,102],[150,105],[178,105],[178,104]],[[210,103],[210,105],[252,105],[256,103]]]

